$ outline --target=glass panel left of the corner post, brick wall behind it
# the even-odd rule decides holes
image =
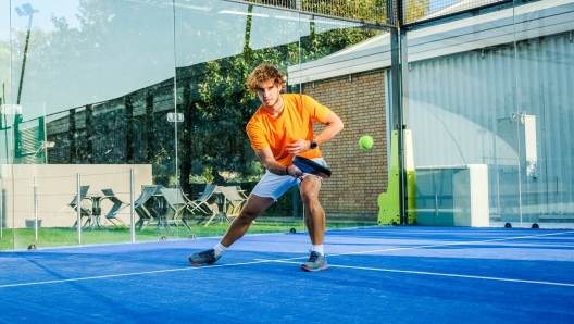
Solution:
[[[289,84],[332,109],[345,129],[320,146],[333,171],[321,202],[333,227],[377,224],[378,197],[388,188],[385,65],[388,33],[365,24],[301,16],[301,64]],[[315,134],[323,130],[315,124]],[[359,139],[372,136],[371,149]]]

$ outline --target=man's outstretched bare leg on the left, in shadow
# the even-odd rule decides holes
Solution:
[[[236,240],[241,238],[253,220],[259,217],[267,208],[273,204],[273,198],[259,197],[255,195],[249,195],[246,205],[241,209],[239,216],[237,216],[227,228],[227,232],[221,239],[221,244],[228,248]]]

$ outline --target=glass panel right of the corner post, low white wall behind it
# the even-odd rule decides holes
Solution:
[[[417,224],[521,222],[514,9],[408,33]]]

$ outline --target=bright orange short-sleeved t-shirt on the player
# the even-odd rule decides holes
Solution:
[[[275,160],[291,165],[292,155],[285,149],[298,139],[312,139],[313,121],[324,124],[330,110],[305,95],[282,95],[285,109],[278,119],[272,117],[260,107],[247,124],[247,135],[254,150],[271,148]],[[321,158],[319,148],[300,154],[307,159]]]

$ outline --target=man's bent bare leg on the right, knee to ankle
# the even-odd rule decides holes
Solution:
[[[325,211],[319,202],[319,190],[321,179],[315,176],[307,176],[301,182],[301,199],[305,212],[305,225],[312,245],[322,245],[325,238]]]

